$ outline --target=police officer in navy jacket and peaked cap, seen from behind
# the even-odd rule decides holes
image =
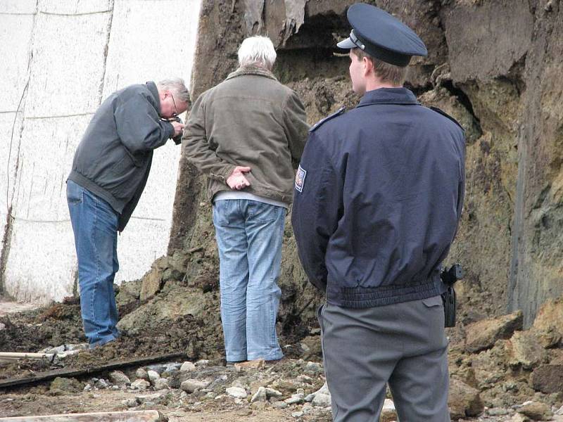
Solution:
[[[367,4],[348,9],[353,91],[310,129],[293,230],[319,312],[334,421],[377,421],[388,383],[400,421],[450,421],[440,279],[464,197],[464,134],[403,88],[417,34]]]

